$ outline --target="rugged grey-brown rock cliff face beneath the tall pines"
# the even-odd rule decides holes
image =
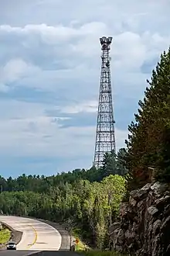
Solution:
[[[170,192],[148,183],[121,205],[121,222],[110,227],[114,250],[136,256],[170,255]]]

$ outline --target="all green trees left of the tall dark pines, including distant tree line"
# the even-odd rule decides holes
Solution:
[[[86,244],[103,249],[108,247],[108,227],[117,217],[124,196],[125,173],[121,157],[110,153],[98,170],[93,167],[51,177],[1,177],[0,210],[64,223]]]

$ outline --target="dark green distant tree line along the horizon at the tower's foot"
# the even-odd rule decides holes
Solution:
[[[121,148],[117,154],[110,152],[104,155],[103,166],[89,170],[75,169],[69,172],[58,173],[53,176],[39,175],[20,175],[18,178],[9,177],[7,179],[0,176],[0,185],[4,192],[15,191],[32,191],[32,192],[48,192],[53,186],[65,184],[66,182],[73,184],[81,179],[89,182],[101,182],[108,175],[125,175],[127,169],[124,167],[124,148]]]

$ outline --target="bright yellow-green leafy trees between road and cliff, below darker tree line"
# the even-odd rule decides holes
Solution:
[[[23,182],[23,179],[22,179]],[[125,179],[110,175],[102,182],[80,180],[74,184],[51,186],[49,192],[16,191],[0,195],[5,214],[33,216],[65,223],[73,220],[82,236],[94,247],[104,247],[110,222],[118,213],[124,195]]]

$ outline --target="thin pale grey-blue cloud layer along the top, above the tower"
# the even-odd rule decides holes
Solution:
[[[23,26],[29,23],[57,23],[70,24],[73,20],[80,23],[89,21],[104,21],[113,29],[163,29],[168,32],[169,1],[144,0],[87,0],[80,2],[73,0],[39,1],[22,0],[15,5],[11,0],[5,0],[0,10],[0,23]],[[21,12],[22,10],[22,12]],[[6,13],[6,15],[5,15]],[[125,28],[124,28],[125,26]]]

